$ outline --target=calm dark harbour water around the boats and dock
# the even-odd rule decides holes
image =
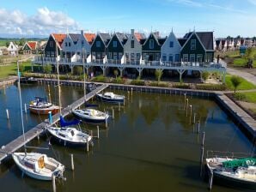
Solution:
[[[23,102],[34,96],[48,95],[48,87],[25,86]],[[53,102],[57,87],[50,87]],[[115,93],[123,93],[114,91]],[[63,87],[63,105],[82,96],[79,87]],[[126,94],[126,92],[124,92]],[[21,114],[15,86],[0,90],[0,146],[21,135]],[[96,103],[97,101],[93,101]],[[252,146],[227,115],[209,99],[189,98],[192,112],[200,118],[205,131],[206,149],[250,153]],[[39,150],[66,165],[67,181],[58,182],[57,191],[208,191],[207,182],[199,177],[201,136],[195,133],[190,109],[186,111],[184,96],[156,93],[133,93],[119,111],[117,105],[100,104],[100,110],[115,118],[108,129],[101,127],[100,140],[86,153],[85,148],[52,145]],[[5,109],[9,108],[7,121]],[[45,117],[27,113],[26,129],[31,129]],[[82,124],[83,129],[95,126]],[[48,139],[33,141],[30,146],[48,147]],[[36,150],[34,150],[36,151]],[[70,170],[70,153],[74,154],[75,171]],[[51,182],[22,177],[12,161],[1,165],[1,191],[52,191]],[[213,185],[213,191],[239,191]]]

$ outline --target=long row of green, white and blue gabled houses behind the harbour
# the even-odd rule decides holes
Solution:
[[[191,32],[177,38],[160,33],[52,33],[44,50],[46,58],[91,63],[210,63],[214,59],[213,32]]]

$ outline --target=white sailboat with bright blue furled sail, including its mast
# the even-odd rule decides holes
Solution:
[[[59,114],[61,127],[47,126],[46,129],[49,133],[61,144],[66,146],[67,144],[72,146],[83,146],[92,143],[92,136],[83,133],[82,130],[68,127],[80,123],[75,120],[70,123],[66,123],[64,118],[61,116],[61,99],[60,99],[60,84],[59,84],[59,66],[57,59],[57,72],[58,72],[58,102],[59,102]]]

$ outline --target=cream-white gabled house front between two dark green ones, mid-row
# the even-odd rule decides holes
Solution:
[[[139,63],[142,57],[142,51],[143,47],[135,36],[134,29],[131,29],[131,35],[129,35],[124,45],[125,63]]]

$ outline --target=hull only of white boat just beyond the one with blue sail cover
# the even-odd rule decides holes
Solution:
[[[106,123],[109,115],[105,112],[86,108],[84,110],[73,110],[76,118],[81,119],[86,123]]]

